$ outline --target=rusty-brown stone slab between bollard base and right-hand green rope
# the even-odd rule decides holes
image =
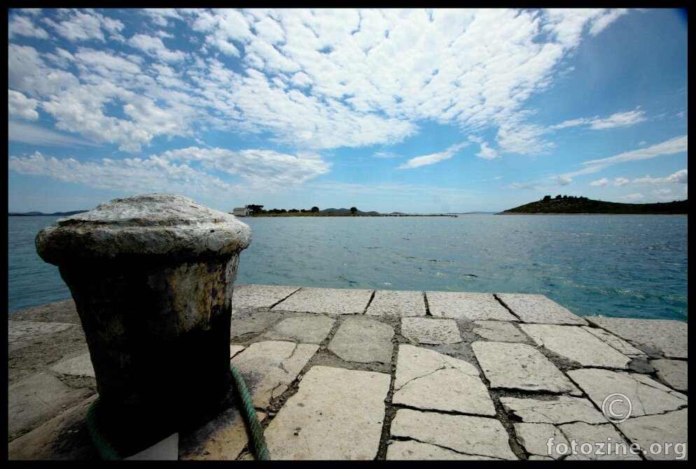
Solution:
[[[265,413],[256,412],[259,420]],[[206,424],[181,434],[179,459],[226,461],[237,459],[249,443],[249,431],[237,407],[221,412]]]

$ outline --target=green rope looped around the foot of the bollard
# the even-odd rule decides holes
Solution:
[[[242,373],[234,366],[230,365],[230,371],[232,372],[232,378],[235,383],[235,390],[239,394],[239,398],[242,401],[242,417],[244,418],[244,423],[246,427],[249,428],[251,433],[251,443],[253,445],[253,452],[256,459],[259,461],[268,461],[271,459],[270,452],[268,452],[268,447],[266,446],[266,439],[263,436],[263,426],[258,420],[256,415],[256,410],[253,408],[253,403],[251,402],[251,396],[249,395],[249,389],[246,387]],[[97,452],[99,452],[99,457],[105,461],[117,461],[122,459],[118,450],[113,447],[109,438],[104,435],[99,419],[99,396],[90,405],[87,411],[87,431],[90,433],[92,442],[94,442],[95,447],[97,447]]]

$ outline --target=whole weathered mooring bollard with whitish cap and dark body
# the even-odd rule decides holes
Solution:
[[[232,290],[249,243],[233,215],[171,194],[114,199],[36,236],[76,303],[100,414],[134,445],[225,402]]]

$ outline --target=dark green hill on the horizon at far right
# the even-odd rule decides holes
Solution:
[[[551,199],[545,196],[541,201],[510,208],[501,214],[522,213],[613,213],[636,215],[677,215],[686,214],[688,200],[658,203],[617,203],[594,201],[587,197],[568,197]]]

